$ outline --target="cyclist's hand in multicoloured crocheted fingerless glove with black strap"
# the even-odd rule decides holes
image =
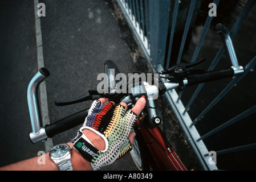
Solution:
[[[100,98],[92,103],[88,116],[78,135],[71,140],[74,148],[91,162],[94,170],[107,166],[132,150],[135,134],[130,135],[133,123],[145,106],[140,98],[132,110],[127,105]],[[90,137],[87,134],[90,133]],[[101,138],[101,144],[92,142],[92,136]],[[102,145],[104,143],[104,146]]]

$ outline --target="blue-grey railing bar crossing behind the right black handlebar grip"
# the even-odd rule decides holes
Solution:
[[[241,27],[243,21],[245,20],[246,16],[249,14],[251,8],[253,7],[253,5],[255,4],[254,0],[249,0],[246,4],[246,6],[243,8],[241,14],[239,15],[237,21],[234,23],[233,27],[230,30],[230,38],[233,39],[235,34],[237,34],[237,31],[239,30],[239,28]],[[214,60],[212,61],[212,63],[210,64],[210,67],[208,69],[208,71],[213,71],[213,69],[216,67],[216,65],[218,64],[218,61],[220,61],[222,55],[225,52],[225,48],[222,45],[220,50],[218,51],[216,57],[214,57]],[[192,105],[194,99],[197,97],[198,93],[200,92],[200,90],[202,89],[202,86],[204,86],[203,84],[199,84],[196,91],[194,92],[193,96],[190,98],[190,101],[188,102],[188,105],[186,105],[184,113],[186,111],[188,111],[189,107]]]

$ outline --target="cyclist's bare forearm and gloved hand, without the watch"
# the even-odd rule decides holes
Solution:
[[[132,110],[129,110],[128,111],[129,113],[124,115],[125,110],[127,110],[127,105],[124,102],[121,102],[120,105],[115,106],[113,102],[107,102],[107,99],[105,98],[100,98],[99,100],[94,101],[94,106],[91,107],[92,110],[97,112],[99,111],[99,109],[101,109],[101,113],[103,114],[100,114],[100,113],[97,114],[97,117],[95,117],[95,120],[92,120],[91,122],[95,124],[95,126],[99,125],[98,122],[101,122],[101,121],[106,122],[104,119],[108,119],[108,117],[109,118],[111,117],[111,115],[109,115],[108,113],[109,110],[111,109],[113,113],[110,113],[110,114],[112,114],[112,116],[115,115],[115,117],[117,118],[115,118],[113,121],[111,120],[107,122],[106,124],[109,125],[109,130],[110,128],[112,129],[113,126],[118,126],[118,127],[115,127],[116,128],[115,131],[111,131],[111,132],[109,131],[107,136],[108,138],[106,138],[104,135],[100,133],[100,132],[103,132],[103,130],[105,130],[106,128],[103,128],[101,126],[99,129],[100,131],[99,132],[97,131],[98,129],[96,130],[92,129],[93,130],[92,131],[91,126],[90,127],[87,126],[87,123],[86,125],[84,125],[86,127],[83,127],[84,128],[83,133],[84,135],[86,135],[87,139],[90,140],[90,143],[92,143],[94,147],[97,148],[97,150],[104,151],[104,153],[101,156],[94,156],[94,158],[96,158],[93,162],[94,169],[99,169],[100,167],[109,165],[113,162],[113,161],[106,162],[102,160],[105,158],[105,156],[108,156],[108,157],[111,156],[113,159],[122,158],[127,153],[127,151],[131,149],[131,145],[133,144],[133,138],[135,137],[135,133],[128,133],[128,132],[131,131],[133,123],[136,121],[137,116],[140,114],[141,110],[143,110],[145,106],[145,102],[146,102],[145,98],[140,98],[136,102]],[[108,117],[106,118],[107,114],[108,114]],[[92,119],[92,117],[90,119]],[[88,129],[88,127],[90,129]],[[122,133],[123,131],[126,131],[126,132]],[[116,138],[117,136],[119,136],[120,138]],[[119,144],[119,146],[116,147],[116,145],[112,145],[111,146],[112,148],[109,149],[109,145],[106,146],[106,144],[108,143],[105,143],[105,142],[109,142],[109,138],[111,139],[111,142],[116,142]],[[69,146],[73,145],[73,143],[67,143],[67,144]],[[125,147],[125,148],[122,149],[122,147]],[[117,154],[115,150],[119,150],[119,152],[122,152],[121,156]],[[123,150],[123,151],[120,151],[120,150]],[[67,152],[69,152],[69,150]],[[71,152],[71,163],[74,170],[92,170],[93,169],[91,166],[91,163],[85,160],[83,156],[80,155],[78,151],[76,151],[75,148],[72,148],[70,152]],[[111,152],[113,152],[113,154],[111,154]],[[66,154],[68,157],[70,157],[69,153],[66,153]],[[45,159],[45,164],[41,164],[42,163],[40,162],[41,159]],[[91,159],[89,160],[91,161]],[[52,170],[59,170],[59,168],[56,166],[55,162],[50,158],[49,153],[47,153],[44,156],[37,156],[35,158],[23,160],[22,162],[18,162],[6,167],[2,167],[0,168],[0,170],[51,170],[52,171]]]

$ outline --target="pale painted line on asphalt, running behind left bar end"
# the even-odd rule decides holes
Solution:
[[[41,32],[41,23],[40,17],[37,15],[38,12],[38,0],[34,0],[34,11],[35,11],[35,33],[36,33],[36,52],[37,52],[37,64],[38,69],[44,67],[43,60],[43,42],[42,42],[42,32]],[[46,92],[46,82],[43,81],[39,86],[40,94],[40,109],[42,114],[42,124],[43,126],[50,124],[49,114],[48,114],[48,102],[47,102],[47,92]],[[48,138],[44,142],[45,151],[50,151],[53,146],[51,138]]]

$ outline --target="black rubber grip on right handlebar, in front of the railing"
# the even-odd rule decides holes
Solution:
[[[190,75],[187,77],[188,86],[201,84],[204,82],[220,80],[221,78],[233,77],[234,69],[224,69],[220,71],[210,71],[203,74]]]

